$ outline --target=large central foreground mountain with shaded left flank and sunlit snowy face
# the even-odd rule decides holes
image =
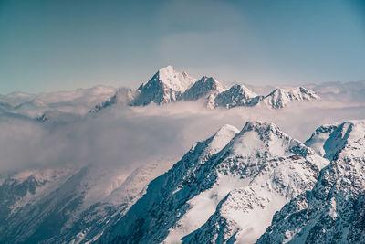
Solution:
[[[274,124],[247,122],[240,133],[224,126],[153,180],[99,241],[253,242],[276,210],[314,186],[325,164]]]

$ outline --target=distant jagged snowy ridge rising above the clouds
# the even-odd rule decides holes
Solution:
[[[137,90],[119,90],[108,101],[97,105],[92,112],[124,103],[130,106],[144,106],[150,103],[161,105],[175,101],[203,101],[210,108],[253,107],[264,104],[269,108],[286,107],[292,101],[318,100],[318,95],[303,87],[276,89],[266,96],[257,95],[244,85],[224,87],[212,77],[203,76],[196,80],[185,72],[180,73],[172,66],[159,69],[151,80],[141,84]]]

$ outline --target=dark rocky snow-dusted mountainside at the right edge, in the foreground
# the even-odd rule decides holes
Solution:
[[[320,127],[313,142],[332,162],[312,191],[276,213],[257,243],[364,243],[365,121]]]

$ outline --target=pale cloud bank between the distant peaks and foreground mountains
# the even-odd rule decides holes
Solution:
[[[111,106],[71,122],[36,122],[0,115],[0,173],[95,165],[121,175],[151,162],[176,162],[191,145],[225,123],[274,122],[302,142],[321,124],[365,119],[361,103],[297,102],[283,110],[264,107],[207,110],[197,102],[163,106]]]

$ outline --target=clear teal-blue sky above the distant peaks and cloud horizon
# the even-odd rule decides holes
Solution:
[[[137,87],[173,65],[223,82],[365,80],[361,0],[0,0],[0,93]]]

